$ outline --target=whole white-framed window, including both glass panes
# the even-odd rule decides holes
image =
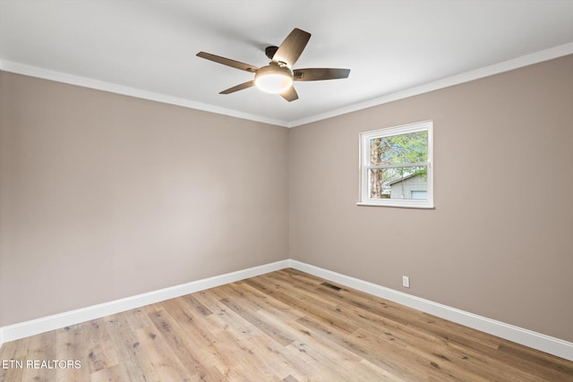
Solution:
[[[433,208],[432,122],[360,134],[360,202]]]

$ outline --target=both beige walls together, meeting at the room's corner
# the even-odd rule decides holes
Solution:
[[[573,341],[573,56],[290,130],[0,81],[0,326],[292,258]],[[436,208],[357,207],[428,119]]]

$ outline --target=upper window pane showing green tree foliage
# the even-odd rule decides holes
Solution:
[[[428,132],[410,132],[370,140],[370,164],[406,165],[428,161]]]

